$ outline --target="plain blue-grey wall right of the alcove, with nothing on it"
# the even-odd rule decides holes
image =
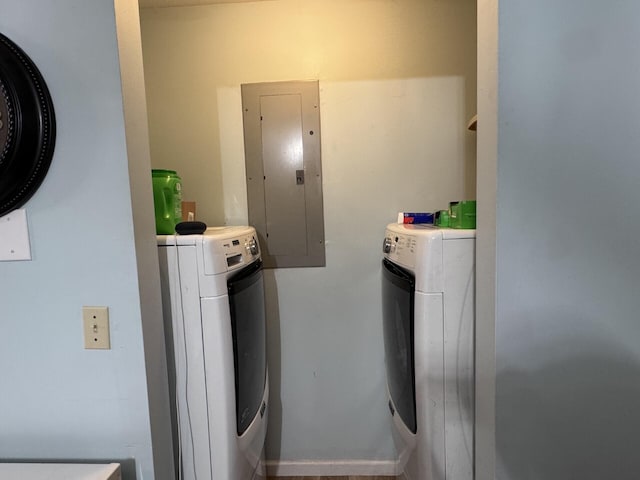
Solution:
[[[495,478],[637,478],[640,5],[498,18]]]

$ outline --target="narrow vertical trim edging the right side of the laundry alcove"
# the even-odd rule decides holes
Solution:
[[[495,477],[498,0],[478,0],[475,475]]]

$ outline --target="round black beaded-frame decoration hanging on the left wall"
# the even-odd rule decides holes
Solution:
[[[49,170],[56,122],[35,64],[0,33],[0,216],[22,206]]]

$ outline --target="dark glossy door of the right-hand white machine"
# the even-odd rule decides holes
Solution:
[[[416,433],[414,365],[415,277],[394,263],[382,261],[382,320],[387,387],[395,411]]]

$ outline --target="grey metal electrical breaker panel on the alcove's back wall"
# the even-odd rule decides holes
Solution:
[[[317,81],[242,85],[249,224],[264,266],[325,265]]]

